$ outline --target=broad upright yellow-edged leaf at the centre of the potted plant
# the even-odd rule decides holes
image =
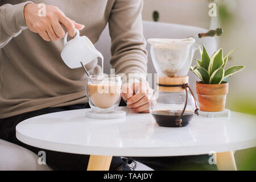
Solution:
[[[221,68],[224,64],[222,48],[218,49],[212,57],[210,58],[210,64],[208,68],[208,73],[212,76],[213,72],[216,71],[218,68]]]

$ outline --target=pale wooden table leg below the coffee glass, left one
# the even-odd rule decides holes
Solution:
[[[112,156],[90,155],[87,171],[108,171]]]

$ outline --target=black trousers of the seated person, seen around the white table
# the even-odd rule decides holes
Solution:
[[[121,105],[123,105],[121,103]],[[59,111],[73,110],[73,109],[85,109],[88,108],[88,104],[79,104],[65,107],[48,107],[29,113],[23,113],[15,115],[13,117],[0,119],[0,139],[7,140],[8,142],[18,144],[28,150],[31,150],[36,155],[39,151],[46,152],[46,163],[53,170],[86,170],[89,162],[89,155],[69,154],[64,152],[49,151],[42,148],[36,148],[20,142],[16,138],[15,127],[19,122],[25,119],[36,117],[37,115],[54,113]],[[159,158],[133,158],[141,163],[155,170],[214,170],[216,165],[210,165],[208,163],[208,155],[197,156],[172,156],[172,157],[159,157]],[[129,170],[126,166],[127,161],[124,161],[120,157],[113,156],[110,170]]]

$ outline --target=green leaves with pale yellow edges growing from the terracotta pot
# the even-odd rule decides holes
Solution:
[[[229,51],[226,56],[223,57],[223,51],[222,48],[220,48],[217,52],[213,53],[212,57],[209,57],[208,52],[203,46],[201,60],[196,59],[197,66],[191,65],[190,69],[204,84],[221,84],[224,78],[240,72],[245,68],[243,65],[236,65],[225,69],[226,63],[228,62],[228,56],[233,51],[234,49]]]

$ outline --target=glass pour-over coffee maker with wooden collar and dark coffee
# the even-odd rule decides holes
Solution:
[[[158,72],[158,89],[150,100],[150,113],[159,126],[186,126],[198,114],[187,74],[193,54],[200,46],[193,38],[147,42],[151,44],[151,57]]]

